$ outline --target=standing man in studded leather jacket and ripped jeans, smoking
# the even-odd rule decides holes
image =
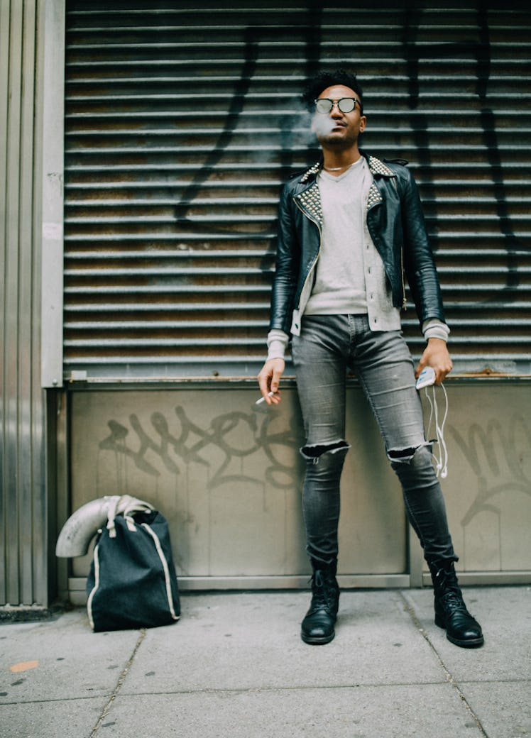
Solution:
[[[284,187],[279,208],[267,361],[258,375],[267,404],[278,404],[284,351],[291,337],[304,418],[303,489],[312,602],[301,624],[308,644],[335,635],[339,588],[340,475],[345,433],[346,370],[356,373],[386,452],[400,479],[408,520],[434,582],[435,622],[458,646],[483,644],[456,579],[451,536],[425,441],[415,377],[434,369],[440,384],[452,368],[439,281],[417,185],[402,164],[361,152],[366,128],[356,75],[324,72],[304,92],[323,158]],[[400,332],[404,273],[427,345],[414,369]]]

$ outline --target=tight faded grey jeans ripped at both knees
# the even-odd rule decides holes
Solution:
[[[401,331],[371,331],[366,315],[304,316],[292,338],[304,419],[306,551],[325,565],[338,556],[340,476],[345,435],[346,370],[354,371],[402,484],[405,511],[426,561],[457,561],[445,501],[425,441],[413,359]]]

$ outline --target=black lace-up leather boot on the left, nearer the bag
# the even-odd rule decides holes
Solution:
[[[306,644],[328,644],[335,636],[338,618],[339,586],[335,567],[314,568],[312,602],[301,623],[301,638]]]

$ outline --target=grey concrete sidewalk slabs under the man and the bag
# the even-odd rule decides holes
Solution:
[[[169,627],[93,633],[85,610],[0,626],[1,738],[531,736],[531,587],[468,587],[485,645],[431,590],[343,591],[307,646],[309,593],[182,594]]]

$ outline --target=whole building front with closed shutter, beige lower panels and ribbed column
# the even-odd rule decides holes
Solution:
[[[1,0],[1,604],[83,601],[91,554],[55,541],[109,494],[168,518],[183,588],[306,582],[295,385],[288,366],[267,411],[255,376],[279,187],[318,157],[298,93],[338,60],[366,92],[363,148],[407,159],[425,207],[460,578],[530,581],[531,12],[359,6]],[[419,356],[411,305],[403,328]],[[340,581],[419,586],[348,392],[366,453],[343,474]]]

